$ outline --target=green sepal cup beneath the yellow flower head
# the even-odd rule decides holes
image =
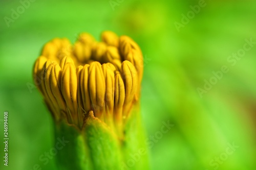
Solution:
[[[83,130],[60,123],[56,125],[55,135],[69,141],[56,155],[60,170],[149,169],[144,131],[135,109],[125,124],[122,139],[92,112]]]

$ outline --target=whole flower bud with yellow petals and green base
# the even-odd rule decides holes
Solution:
[[[61,169],[121,169],[129,152],[146,150],[139,114],[141,50],[130,37],[110,31],[101,39],[81,33],[72,46],[55,38],[34,65],[56,135],[72,141],[58,153]],[[146,155],[131,167],[147,168]]]

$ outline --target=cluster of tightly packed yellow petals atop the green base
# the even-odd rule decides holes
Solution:
[[[106,31],[97,42],[79,35],[74,45],[55,38],[42,49],[34,65],[34,80],[58,122],[82,129],[93,112],[116,127],[129,118],[140,97],[143,58],[130,37]]]

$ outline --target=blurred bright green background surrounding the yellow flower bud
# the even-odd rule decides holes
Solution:
[[[131,36],[142,49],[141,110],[149,139],[162,122],[174,124],[150,149],[152,169],[256,169],[256,46],[233,66],[227,60],[245,39],[256,41],[256,1],[205,1],[179,31],[175,23],[199,1],[114,2],[113,8],[108,0],[37,0],[8,23],[21,3],[0,2],[0,137],[8,111],[10,138],[9,166],[1,160],[0,169],[56,169],[54,158],[46,165],[38,159],[54,144],[53,121],[31,86],[33,63],[54,37],[73,43],[88,32],[99,40],[104,30]],[[197,89],[223,65],[229,71],[200,96]],[[228,155],[228,143],[239,148]],[[1,159],[3,148],[0,142]]]

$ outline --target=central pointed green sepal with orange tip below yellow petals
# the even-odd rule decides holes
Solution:
[[[122,155],[118,137],[106,124],[94,117],[93,112],[89,113],[83,135],[95,170],[121,169]]]

